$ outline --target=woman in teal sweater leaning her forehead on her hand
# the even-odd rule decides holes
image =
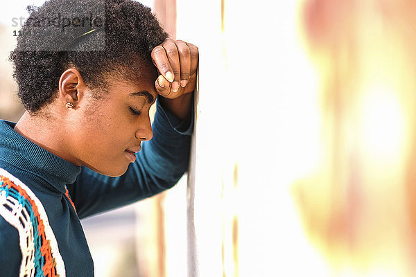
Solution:
[[[26,112],[0,121],[1,276],[94,276],[80,218],[183,175],[198,48],[166,37],[131,0],[31,8],[10,55]]]

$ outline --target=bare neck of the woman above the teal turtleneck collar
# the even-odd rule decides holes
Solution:
[[[78,166],[78,162],[69,154],[69,145],[64,140],[64,129],[58,122],[33,116],[26,111],[17,122],[15,131],[44,150]]]

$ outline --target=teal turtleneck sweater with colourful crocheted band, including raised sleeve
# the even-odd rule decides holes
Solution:
[[[0,276],[89,277],[94,264],[80,219],[171,188],[189,163],[193,123],[157,102],[153,139],[121,177],[56,157],[0,120]]]

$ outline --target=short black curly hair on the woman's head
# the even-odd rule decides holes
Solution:
[[[155,70],[150,53],[168,37],[150,8],[133,0],[49,0],[28,10],[10,60],[18,96],[33,114],[53,101],[71,67],[91,89],[114,74],[137,81],[143,66]]]

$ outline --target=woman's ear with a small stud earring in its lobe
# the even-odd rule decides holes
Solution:
[[[85,96],[85,89],[86,86],[80,72],[73,68],[67,69],[59,79],[58,98],[63,105],[71,102],[75,108]]]

